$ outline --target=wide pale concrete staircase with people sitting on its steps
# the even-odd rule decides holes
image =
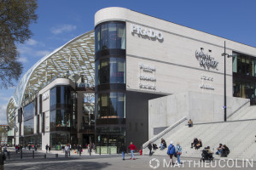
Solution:
[[[202,140],[203,148],[210,146],[215,153],[218,144],[226,144],[230,148],[229,158],[253,158],[256,160],[256,120],[240,122],[218,122],[199,124],[194,127],[183,127],[177,133],[166,138],[169,145],[179,142],[186,157],[201,157],[201,149],[191,149],[194,138]],[[154,150],[154,155],[166,156],[167,150]],[[147,153],[146,153],[147,154]],[[218,156],[215,156],[218,157]]]

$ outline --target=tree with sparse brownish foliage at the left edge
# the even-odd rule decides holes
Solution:
[[[13,86],[18,81],[22,65],[15,43],[32,37],[29,25],[36,23],[37,0],[0,0],[0,88]]]

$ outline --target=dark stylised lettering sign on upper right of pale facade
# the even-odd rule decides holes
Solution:
[[[203,67],[207,67],[208,69],[210,67],[216,68],[218,66],[218,61],[216,61],[213,57],[211,57],[210,54],[205,54],[203,52],[203,49],[201,51],[196,50],[195,51],[195,57],[199,60],[199,63]]]

